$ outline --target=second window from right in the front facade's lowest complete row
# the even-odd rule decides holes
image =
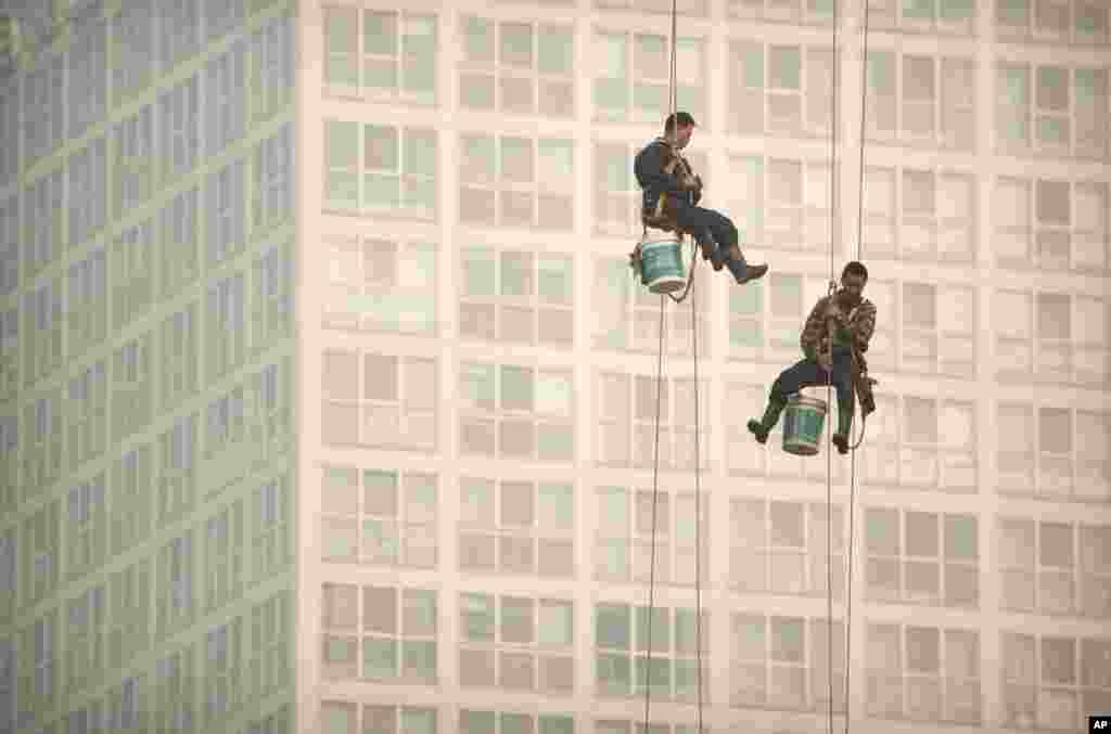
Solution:
[[[870,716],[982,723],[979,632],[870,623],[867,635]]]

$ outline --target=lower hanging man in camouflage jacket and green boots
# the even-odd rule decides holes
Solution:
[[[872,396],[875,381],[868,376],[864,361],[864,352],[875,331],[875,306],[862,295],[867,282],[868,269],[859,262],[850,262],[841,272],[841,288],[814,304],[799,339],[805,359],[783,370],[772,384],[763,419],[749,421],[749,431],[758,442],[768,441],[768,434],[775,428],[792,394],[802,388],[827,384],[829,380],[837,389],[838,403],[833,443],[840,453],[849,452],[854,396],[859,396],[865,418],[875,410]]]

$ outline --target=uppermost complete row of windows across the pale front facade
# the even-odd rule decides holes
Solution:
[[[974,3],[959,2],[962,12],[972,12]],[[932,0],[903,4],[930,6]],[[884,13],[877,14],[882,22]],[[442,99],[437,77],[443,40],[437,16],[339,7],[326,8],[324,16],[326,94],[408,104],[436,104]],[[1101,9],[1100,16],[1105,33],[1107,10]],[[973,19],[967,14],[957,23],[971,28]],[[457,71],[463,109],[575,115],[575,88],[581,82],[575,80],[573,24],[464,13],[458,27]],[[665,36],[594,29],[589,50],[594,121],[655,124],[667,114],[668,46]],[[831,47],[740,38],[730,38],[727,46],[727,68],[732,71],[727,82],[729,102],[722,112],[729,132],[829,134]],[[711,117],[708,84],[713,68],[708,39],[680,38],[675,66],[678,107],[691,111],[705,127]],[[978,119],[987,117],[989,108],[975,101],[978,63],[973,57],[874,50],[869,52],[868,66],[870,140],[977,149]],[[1000,60],[994,72],[1001,90],[994,110],[998,152],[1107,157],[1105,68]]]

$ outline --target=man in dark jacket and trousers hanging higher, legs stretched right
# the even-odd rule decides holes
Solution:
[[[694,132],[688,112],[668,117],[663,137],[637,154],[634,172],[643,189],[642,215],[649,227],[685,232],[694,238],[703,259],[714,270],[724,265],[738,283],[747,283],[768,272],[768,265],[750,265],[737,242],[737,227],[724,214],[698,205],[702,179],[695,175],[680,151]]]

